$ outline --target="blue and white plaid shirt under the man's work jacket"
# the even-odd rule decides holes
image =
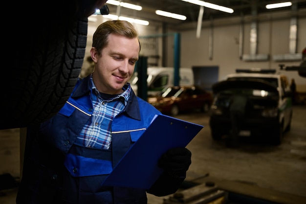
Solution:
[[[131,86],[124,86],[125,90],[121,94],[108,99],[101,97],[92,76],[90,76],[90,86],[93,93],[91,94],[93,113],[77,137],[76,144],[95,149],[110,149],[111,121],[127,105]]]

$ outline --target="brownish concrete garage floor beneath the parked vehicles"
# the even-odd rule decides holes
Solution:
[[[177,118],[204,125],[188,144],[192,164],[186,183],[214,181],[229,192],[267,199],[272,203],[306,204],[306,106],[295,106],[290,132],[280,146],[241,138],[238,149],[213,141],[209,114],[181,114]],[[0,175],[18,180],[21,169],[20,129],[0,130]],[[197,187],[197,186],[196,186]],[[15,204],[17,187],[0,191],[0,204]],[[149,204],[163,204],[167,197],[148,194]]]

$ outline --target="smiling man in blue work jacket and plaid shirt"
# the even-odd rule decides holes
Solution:
[[[186,148],[161,157],[164,171],[150,189],[101,185],[160,114],[128,83],[139,52],[131,23],[98,26],[90,49],[93,73],[78,81],[59,113],[27,129],[17,204],[147,204],[146,193],[175,193],[191,164]]]

